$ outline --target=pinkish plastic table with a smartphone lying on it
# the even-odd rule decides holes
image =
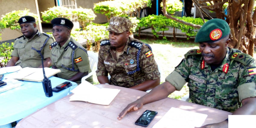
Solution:
[[[69,101],[69,97],[73,95],[71,94],[26,118],[23,118],[16,125],[16,128],[141,128],[141,126],[134,124],[140,115],[145,110],[157,111],[157,116],[148,126],[150,128],[153,127],[171,107],[207,114],[208,117],[203,125],[221,122],[228,118],[228,115],[232,114],[230,112],[194,103],[165,98],[146,104],[142,109],[129,112],[123,119],[118,120],[117,115],[127,106],[127,104],[144,96],[146,92],[113,85],[96,86],[100,88],[117,88],[121,90],[108,106],[86,103],[83,101]]]

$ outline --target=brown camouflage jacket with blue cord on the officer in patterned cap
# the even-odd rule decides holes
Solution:
[[[132,87],[146,80],[160,78],[150,46],[133,38],[127,40],[118,60],[116,50],[110,46],[110,42],[102,41],[98,60],[96,75],[108,76],[109,73],[112,85]]]

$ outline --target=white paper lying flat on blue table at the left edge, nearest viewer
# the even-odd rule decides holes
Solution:
[[[24,85],[22,81],[14,79],[5,79],[3,81],[6,82],[6,85],[0,87],[0,93]]]

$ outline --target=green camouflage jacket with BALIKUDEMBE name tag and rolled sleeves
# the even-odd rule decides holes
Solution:
[[[227,48],[226,57],[214,71],[204,63],[200,50],[193,49],[166,81],[177,90],[188,82],[193,103],[233,112],[243,99],[256,97],[255,74],[255,60],[237,49]]]

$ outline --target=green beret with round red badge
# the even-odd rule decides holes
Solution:
[[[199,29],[195,42],[213,43],[227,37],[230,33],[228,23],[223,19],[211,19]]]

